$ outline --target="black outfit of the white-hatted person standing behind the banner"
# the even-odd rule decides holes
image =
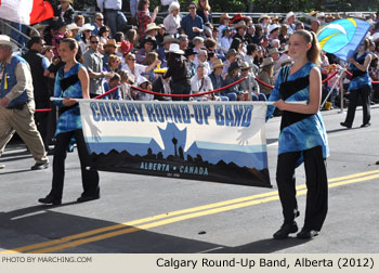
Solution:
[[[168,67],[169,69],[164,75],[164,78],[167,79],[171,77],[172,94],[190,94],[190,69],[186,60],[183,56],[178,55],[172,64],[168,63]],[[190,98],[172,96],[172,101],[190,101]]]

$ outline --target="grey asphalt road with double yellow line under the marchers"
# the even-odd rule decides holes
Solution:
[[[369,128],[339,126],[344,114],[323,112],[330,157],[329,212],[318,237],[272,239],[282,224],[275,166],[279,118],[266,125],[273,188],[101,172],[101,199],[77,204],[77,153],[66,160],[62,206],[41,206],[52,170],[30,171],[25,145],[9,145],[0,164],[0,252],[342,253],[379,252],[379,106]],[[50,157],[52,159],[52,157]],[[304,211],[303,167],[297,170]],[[302,226],[303,214],[298,218]]]

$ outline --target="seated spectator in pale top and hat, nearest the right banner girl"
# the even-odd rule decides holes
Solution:
[[[244,90],[245,101],[267,101],[265,95],[259,92],[259,84],[251,68],[252,66],[247,62],[243,62],[240,67],[240,77],[246,78],[246,80],[239,83]]]

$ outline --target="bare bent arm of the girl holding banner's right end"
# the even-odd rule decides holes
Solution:
[[[316,114],[322,98],[322,76],[319,69],[313,67],[310,72],[310,102],[306,105],[285,103],[278,100],[274,106],[282,110],[290,110],[301,114]]]

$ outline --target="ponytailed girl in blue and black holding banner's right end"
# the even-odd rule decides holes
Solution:
[[[300,212],[296,199],[295,169],[304,162],[306,177],[306,208],[298,238],[318,235],[328,209],[328,185],[325,159],[328,143],[319,113],[322,80],[319,47],[314,32],[295,31],[289,39],[289,55],[293,64],[280,69],[270,95],[274,106],[283,110],[278,140],[276,182],[283,207],[284,224],[274,234],[284,239],[298,231],[295,221]],[[306,105],[289,102],[306,101]],[[267,118],[275,107],[269,106]]]

